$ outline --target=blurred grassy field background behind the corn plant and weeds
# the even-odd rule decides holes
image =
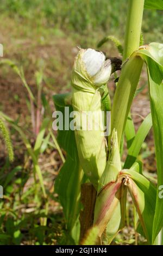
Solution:
[[[0,0],[0,13],[3,58],[8,58],[23,68],[27,84],[36,98],[40,88],[38,74],[42,75],[40,111],[46,109],[46,113],[51,113],[54,111],[52,94],[70,90],[73,59],[78,52],[76,46],[96,48],[97,43],[106,35],[115,35],[123,44],[127,0]],[[162,11],[144,11],[142,32],[145,44],[151,41],[162,42]],[[108,56],[118,56],[112,42],[101,49]],[[31,106],[26,88],[9,66],[1,65],[0,76],[0,111],[15,120],[33,147],[36,137],[32,130]],[[146,76],[142,74],[143,89],[136,96],[135,101],[139,103],[133,106],[133,113],[141,113],[143,117],[149,113],[145,86]],[[111,95],[114,90],[112,79]],[[37,105],[34,107],[37,111]],[[141,120],[135,114],[137,126]],[[15,160],[13,163],[9,162],[5,145],[1,143],[0,185],[4,186],[4,199],[0,199],[0,244],[64,244],[65,223],[53,189],[62,164],[55,138],[49,136],[48,131],[45,132],[45,143],[41,145],[38,156],[48,196],[45,199],[39,180],[33,174],[32,157],[27,153],[21,136],[13,127],[9,126],[9,129]],[[155,179],[152,134],[147,137],[140,158],[144,159],[145,169]],[[121,244],[122,241],[127,244],[135,243],[130,208],[127,229],[117,236],[116,243]],[[140,237],[139,243],[141,241]]]

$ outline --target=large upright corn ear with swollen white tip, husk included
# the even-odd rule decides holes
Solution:
[[[78,112],[75,137],[79,161],[84,173],[97,189],[106,164],[103,106],[99,88],[109,80],[111,63],[105,60],[103,53],[93,51],[80,49],[75,59],[72,106]],[[82,118],[84,115],[87,120],[92,120],[92,127],[85,123]]]

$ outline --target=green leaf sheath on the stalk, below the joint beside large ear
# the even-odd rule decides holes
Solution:
[[[131,103],[139,82],[143,61],[140,57],[131,57],[121,72],[120,80],[114,95],[111,111],[111,131],[116,129],[118,146],[121,148],[121,138],[126,126]]]

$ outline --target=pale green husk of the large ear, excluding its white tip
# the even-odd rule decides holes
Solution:
[[[102,102],[102,92],[99,89],[106,84],[106,79],[102,79],[103,82],[100,84],[93,82],[93,77],[95,76],[90,77],[86,71],[83,62],[84,53],[84,49],[79,51],[74,62],[72,74],[72,106],[73,111],[78,113],[76,126],[79,127],[74,131],[74,134],[80,165],[97,190],[99,179],[106,164],[106,143],[102,111],[108,106],[106,106],[104,100]],[[109,79],[108,76],[107,79]],[[85,120],[83,120],[83,115]],[[91,120],[89,123],[92,125],[91,129],[88,129],[87,120]]]

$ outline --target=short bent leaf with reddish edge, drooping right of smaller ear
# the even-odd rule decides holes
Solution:
[[[136,167],[137,168],[137,167]],[[134,168],[121,172],[129,177],[128,189],[135,204],[141,226],[137,231],[144,234],[148,243],[152,243],[153,220],[155,213],[156,188],[145,176],[135,172]],[[142,231],[143,230],[143,231]]]

